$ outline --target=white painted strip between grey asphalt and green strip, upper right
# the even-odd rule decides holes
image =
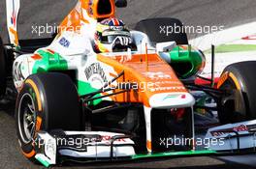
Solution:
[[[255,33],[256,22],[251,22],[190,40],[189,43],[197,46],[201,50],[207,50],[211,44],[220,45],[227,42],[234,42]]]

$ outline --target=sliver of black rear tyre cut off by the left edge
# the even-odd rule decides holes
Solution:
[[[0,37],[0,98],[6,92],[6,56],[3,41]]]

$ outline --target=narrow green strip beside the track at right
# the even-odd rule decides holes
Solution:
[[[215,47],[216,53],[256,51],[256,44],[222,44]],[[210,53],[210,49],[205,51]]]

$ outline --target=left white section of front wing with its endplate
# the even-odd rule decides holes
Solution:
[[[135,155],[134,142],[130,136],[104,131],[40,131],[34,144],[36,159],[46,167],[57,164],[61,156],[110,160]]]

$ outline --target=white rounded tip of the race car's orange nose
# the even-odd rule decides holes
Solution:
[[[155,94],[149,99],[150,107],[158,109],[191,107],[194,104],[194,97],[185,92]]]

